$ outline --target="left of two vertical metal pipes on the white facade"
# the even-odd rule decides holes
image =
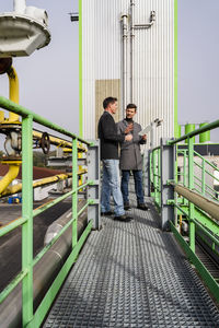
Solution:
[[[122,15],[123,22],[123,103],[122,103],[122,117],[124,117],[124,109],[127,104],[127,38],[128,38],[128,15]]]

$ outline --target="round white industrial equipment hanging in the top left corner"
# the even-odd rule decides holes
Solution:
[[[26,7],[25,0],[14,0],[13,12],[0,14],[0,57],[30,56],[47,46],[50,33],[44,9]]]

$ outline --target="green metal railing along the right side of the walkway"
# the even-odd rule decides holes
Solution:
[[[219,211],[219,203],[217,197],[215,197],[210,191],[215,190],[210,188],[206,184],[206,175],[208,174],[211,178],[217,179],[212,174],[210,174],[207,169],[207,165],[210,165],[215,171],[218,171],[218,168],[211,164],[209,161],[200,156],[197,152],[194,151],[194,137],[203,133],[205,131],[209,131],[212,129],[216,129],[219,127],[219,120],[216,120],[209,125],[206,125],[195,131],[192,131],[178,139],[175,140],[169,140],[169,145],[176,145],[176,153],[177,155],[183,155],[183,173],[178,174],[177,172],[177,156],[176,162],[174,163],[174,180],[168,180],[165,184],[177,186],[180,184],[180,176],[182,176],[182,183],[187,190],[195,190],[196,192],[199,191],[199,194],[211,201],[215,201],[216,206],[218,206]],[[178,149],[178,143],[182,143],[182,141],[186,141],[187,148],[186,149]],[[154,198],[154,202],[158,206],[160,212],[162,212],[162,176],[161,176],[161,155],[159,155],[159,147],[153,149],[150,152],[150,185],[153,187],[151,196]],[[196,162],[196,157],[199,157],[201,161],[201,165]],[[201,178],[197,179],[194,175],[194,168],[195,166],[199,167],[201,171]],[[217,179],[218,180],[218,179]],[[195,188],[195,184],[197,185],[197,181],[199,183],[199,190]],[[210,191],[209,191],[210,190]],[[218,195],[217,192],[215,192]],[[207,198],[208,197],[208,198]],[[200,259],[196,255],[195,246],[196,246],[196,234],[198,234],[199,231],[204,233],[206,236],[206,239],[210,239],[211,243],[209,244],[206,241],[206,244],[208,244],[209,247],[211,247],[212,251],[219,256],[219,251],[217,249],[216,251],[216,245],[219,246],[219,221],[214,220],[206,211],[201,210],[197,206],[193,203],[192,200],[186,199],[186,197],[178,196],[176,191],[174,191],[174,199],[169,199],[168,204],[172,206],[175,213],[175,220],[170,222],[171,231],[174,233],[176,239],[184,248],[185,253],[187,254],[191,261],[195,265],[196,269],[198,270],[201,278],[205,280],[206,284],[208,285],[209,290],[211,291],[212,295],[219,302],[219,284],[218,282],[212,278],[212,276],[209,273],[207,268],[201,263]],[[189,243],[187,243],[184,237],[181,234],[181,218],[183,216],[183,220],[186,220],[188,224],[188,237]],[[205,239],[201,236],[203,239]]]

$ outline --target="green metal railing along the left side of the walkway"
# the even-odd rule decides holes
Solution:
[[[62,129],[61,127],[50,122],[49,120],[32,113],[31,110],[14,104],[13,102],[0,97],[0,107],[7,110],[19,114],[22,117],[22,218],[11,222],[7,226],[0,229],[0,237],[4,236],[9,232],[13,231],[18,226],[22,227],[22,270],[13,279],[13,281],[0,293],[0,303],[2,303],[7,296],[22,282],[22,327],[39,327],[46,313],[48,312],[57,292],[60,289],[68,271],[74,262],[80,248],[88,234],[90,233],[93,222],[92,220],[88,223],[84,232],[80,239],[78,239],[77,227],[78,216],[84,211],[90,204],[94,202],[92,199],[88,199],[85,206],[78,211],[78,190],[92,186],[93,180],[87,180],[83,185],[78,186],[78,142],[84,147],[92,147],[92,143],[77,137],[76,134]],[[37,122],[44,127],[53,129],[64,136],[70,137],[72,140],[72,190],[68,194],[57,198],[56,200],[46,203],[45,206],[33,210],[33,122]],[[96,181],[95,181],[96,184]],[[33,219],[39,213],[44,212],[51,206],[62,201],[64,199],[72,197],[72,218],[61,229],[53,241],[44,247],[39,254],[33,258]],[[57,274],[53,284],[48,289],[42,303],[37,309],[33,309],[33,270],[34,266],[39,259],[50,249],[56,241],[64,234],[64,232],[70,227],[72,229],[72,248],[61,270]]]

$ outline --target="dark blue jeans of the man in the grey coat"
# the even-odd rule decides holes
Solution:
[[[135,180],[135,190],[138,203],[145,203],[143,200],[143,187],[142,187],[142,171],[132,171],[134,180]],[[123,169],[122,171],[122,192],[124,203],[129,202],[128,198],[128,181],[129,181],[130,171]]]

